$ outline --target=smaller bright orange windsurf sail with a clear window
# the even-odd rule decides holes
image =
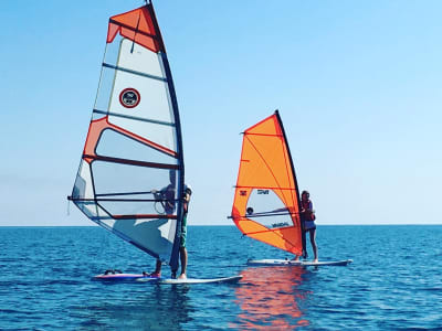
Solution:
[[[244,235],[305,255],[295,169],[277,110],[243,132],[231,217]]]

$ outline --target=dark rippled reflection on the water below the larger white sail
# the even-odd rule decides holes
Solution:
[[[185,330],[194,310],[189,286],[129,285],[107,286],[105,297],[90,299],[86,307],[71,310],[84,328],[103,330]],[[80,316],[78,316],[80,314]]]

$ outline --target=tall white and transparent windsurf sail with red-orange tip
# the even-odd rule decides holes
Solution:
[[[109,19],[75,205],[178,267],[183,159],[172,77],[152,4]]]

